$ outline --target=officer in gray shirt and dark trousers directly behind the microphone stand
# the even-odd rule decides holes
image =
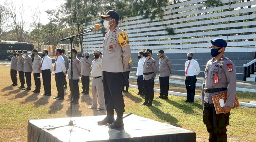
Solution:
[[[71,49],[71,52],[73,53],[71,55],[71,53],[69,54],[70,57],[73,58],[73,62],[70,61],[70,64],[69,64],[69,74],[68,74],[68,79],[69,79],[69,84],[71,83],[71,64],[73,66],[73,88],[71,90],[71,92],[73,92],[72,95],[72,101],[69,101],[68,104],[79,104],[79,86],[78,86],[78,82],[79,82],[79,77],[81,75],[81,62],[78,58],[76,58],[76,54],[77,54],[77,51],[75,49]],[[71,84],[70,84],[71,85]]]

